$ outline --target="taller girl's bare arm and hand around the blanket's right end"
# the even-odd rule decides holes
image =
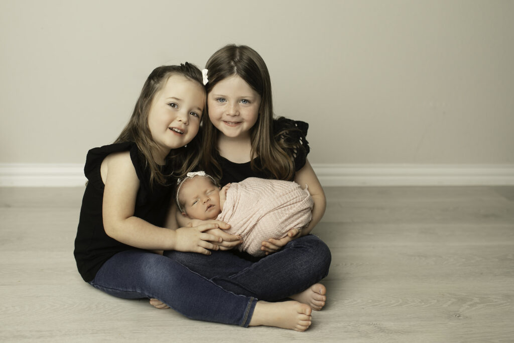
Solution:
[[[269,240],[262,242],[262,250],[266,251],[266,255],[281,249],[284,245],[293,239],[308,234],[316,226],[316,224],[319,223],[323,217],[323,214],[325,213],[325,192],[323,191],[318,177],[316,176],[316,173],[314,172],[314,169],[308,160],[305,161],[305,166],[303,166],[303,168],[296,173],[295,182],[302,188],[305,187],[305,185],[308,185],[309,193],[314,201],[313,219],[310,221],[309,225],[303,228],[301,231],[292,229],[287,233],[286,237],[280,240],[270,238]]]

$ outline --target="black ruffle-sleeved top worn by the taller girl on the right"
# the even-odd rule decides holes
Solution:
[[[309,124],[303,121],[291,120],[284,117],[273,120],[273,134],[275,135],[275,139],[284,139],[293,146],[289,151],[289,155],[295,163],[295,171],[299,171],[305,166],[307,154],[310,151],[307,139],[305,138],[308,128]],[[260,157],[255,158],[255,164],[262,170],[252,170],[250,165],[251,161],[246,163],[234,163],[219,154],[217,154],[215,158],[222,168],[222,186],[232,182],[241,182],[248,177],[273,178],[265,167],[262,168]]]

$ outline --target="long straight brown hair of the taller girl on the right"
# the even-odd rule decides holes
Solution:
[[[250,87],[261,96],[259,116],[257,122],[250,131],[251,153],[250,156],[259,156],[261,166],[251,160],[253,170],[262,170],[269,177],[291,180],[295,175],[295,166],[287,152],[287,146],[280,137],[275,137],[273,132],[273,101],[271,97],[271,80],[268,68],[262,57],[252,48],[246,45],[226,45],[207,61],[209,82],[206,84],[207,94],[216,83],[238,75],[245,80]],[[203,140],[203,167],[206,171],[217,177],[222,177],[222,168],[216,161],[218,131],[205,116]]]

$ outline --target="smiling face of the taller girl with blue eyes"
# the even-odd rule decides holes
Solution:
[[[234,75],[214,85],[207,104],[216,129],[230,138],[246,138],[259,116],[261,96],[240,76]]]

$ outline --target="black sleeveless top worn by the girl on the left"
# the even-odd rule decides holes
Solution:
[[[134,142],[116,143],[89,150],[84,166],[87,186],[82,199],[79,226],[75,239],[75,260],[84,281],[93,280],[100,267],[117,252],[136,249],[107,236],[103,227],[102,202],[105,185],[100,174],[103,159],[112,153],[130,151],[132,164],[139,178],[134,216],[153,225],[163,226],[172,198],[173,186],[154,183],[150,187],[150,170]],[[171,163],[162,166],[164,175],[171,174]],[[167,183],[174,185],[176,179],[169,177]]]

